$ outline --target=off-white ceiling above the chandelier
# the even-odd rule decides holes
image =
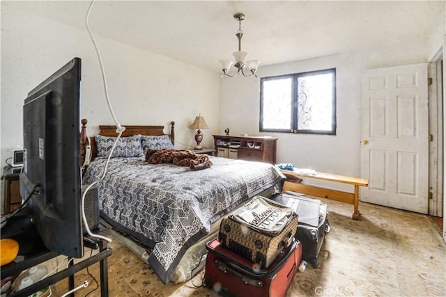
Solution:
[[[85,29],[90,1],[1,1]],[[93,33],[220,71],[237,50],[235,13],[244,13],[242,50],[261,65],[426,42],[445,1],[96,1]]]

